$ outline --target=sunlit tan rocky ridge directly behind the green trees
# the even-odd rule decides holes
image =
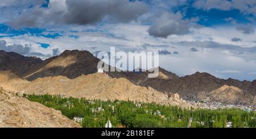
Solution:
[[[112,78],[102,73],[81,75],[75,79],[63,76],[38,78],[27,85],[14,85],[13,89],[25,94],[59,94],[85,99],[118,99],[191,107],[177,94],[164,94],[151,87],[136,86],[126,78]]]

